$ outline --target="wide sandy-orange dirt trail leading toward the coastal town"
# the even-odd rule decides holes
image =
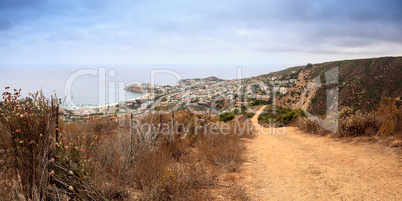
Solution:
[[[281,128],[264,129],[271,134],[246,140],[241,183],[252,200],[402,200],[400,156],[294,127],[283,135],[274,135]]]

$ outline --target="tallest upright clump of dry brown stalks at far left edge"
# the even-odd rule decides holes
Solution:
[[[59,102],[55,97],[46,99],[42,92],[30,95],[29,99],[20,100],[21,89],[4,92],[0,123],[10,139],[24,196],[42,200],[47,197],[50,145],[56,136]]]

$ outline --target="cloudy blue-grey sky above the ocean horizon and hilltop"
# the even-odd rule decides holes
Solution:
[[[375,46],[396,54],[401,8],[397,0],[3,0],[0,34],[10,37],[0,38],[8,44],[0,60],[230,61],[273,52],[375,54],[367,50]]]

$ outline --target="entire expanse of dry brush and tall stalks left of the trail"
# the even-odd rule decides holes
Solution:
[[[210,200],[211,169],[237,171],[241,138],[252,137],[234,123],[229,133],[204,132],[215,117],[189,111],[136,116],[131,129],[130,118],[57,121],[56,99],[35,96],[26,104],[16,94],[1,113],[0,163],[10,165],[0,172],[0,197],[8,200],[130,200],[130,192],[142,200]],[[229,199],[244,197],[232,187]]]

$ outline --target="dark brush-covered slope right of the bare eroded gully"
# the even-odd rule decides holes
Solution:
[[[339,70],[338,84],[335,87],[339,89],[340,106],[373,111],[382,97],[395,98],[402,95],[402,57],[344,60],[316,64],[308,70],[310,71],[308,80],[312,80],[316,76],[324,78],[324,73],[335,67],[338,67]],[[311,101],[311,112],[325,113],[326,89],[327,87],[321,87],[317,90]]]

